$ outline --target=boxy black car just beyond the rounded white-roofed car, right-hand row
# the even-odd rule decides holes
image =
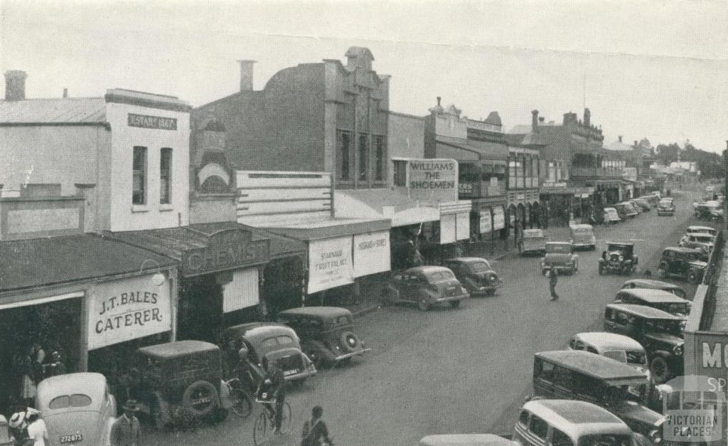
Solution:
[[[624,334],[644,347],[655,383],[683,374],[684,326],[684,318],[645,305],[611,303],[604,310],[606,332]]]

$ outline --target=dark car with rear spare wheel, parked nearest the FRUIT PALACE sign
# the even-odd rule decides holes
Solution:
[[[305,307],[281,311],[278,322],[290,326],[301,340],[301,350],[320,368],[371,351],[352,332],[352,312],[339,307]]]

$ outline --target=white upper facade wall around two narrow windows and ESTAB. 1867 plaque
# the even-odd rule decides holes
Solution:
[[[175,118],[177,130],[130,127],[128,114]],[[111,124],[111,230],[146,230],[189,224],[189,112],[107,103]],[[134,146],[147,148],[146,205],[132,206]],[[159,204],[159,154],[172,149],[171,204]]]

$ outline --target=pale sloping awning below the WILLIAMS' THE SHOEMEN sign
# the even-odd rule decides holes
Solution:
[[[440,219],[437,203],[416,200],[398,189],[337,190],[333,203],[336,216],[355,219],[376,216],[391,219],[392,227]]]

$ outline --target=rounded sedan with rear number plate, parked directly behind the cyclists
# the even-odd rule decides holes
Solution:
[[[298,334],[290,326],[249,322],[223,330],[220,345],[228,355],[235,356],[242,344],[248,347],[247,360],[254,380],[265,376],[264,358],[281,369],[286,381],[303,381],[317,372],[313,361],[301,351]]]

